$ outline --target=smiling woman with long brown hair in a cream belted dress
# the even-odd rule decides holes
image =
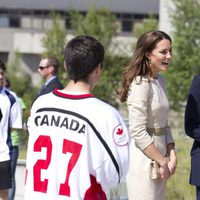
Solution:
[[[144,33],[125,69],[120,100],[127,101],[131,134],[131,162],[127,176],[129,200],[164,200],[166,180],[175,173],[177,157],[168,125],[165,81],[172,41],[162,31]],[[160,177],[151,178],[151,162]]]

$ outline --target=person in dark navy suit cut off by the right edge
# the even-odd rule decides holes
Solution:
[[[190,184],[196,186],[200,200],[200,75],[193,78],[185,109],[185,132],[194,140],[191,149]]]

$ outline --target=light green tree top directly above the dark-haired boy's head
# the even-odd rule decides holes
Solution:
[[[92,35],[100,40],[104,47],[109,47],[111,40],[117,33],[117,20],[107,8],[90,8],[86,16],[72,11],[71,26],[75,35]]]

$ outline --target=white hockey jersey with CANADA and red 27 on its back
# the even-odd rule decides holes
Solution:
[[[28,130],[25,200],[104,200],[127,174],[128,130],[91,94],[39,97]]]

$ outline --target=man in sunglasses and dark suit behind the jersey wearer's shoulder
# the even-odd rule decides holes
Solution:
[[[55,57],[42,58],[39,66],[38,72],[45,79],[45,84],[40,89],[37,97],[52,92],[55,88],[63,89],[63,85],[57,77],[57,72],[59,69],[59,62]]]

